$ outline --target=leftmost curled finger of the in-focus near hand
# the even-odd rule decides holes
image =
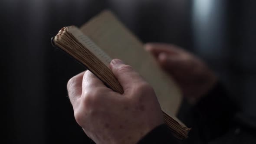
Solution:
[[[77,98],[81,97],[82,94],[82,79],[85,72],[81,72],[78,75],[75,75],[71,79],[69,79],[69,82],[67,84],[68,94],[69,94],[69,100],[71,104],[73,105],[75,103],[75,100]]]

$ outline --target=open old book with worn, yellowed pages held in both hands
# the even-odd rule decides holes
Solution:
[[[175,117],[182,99],[179,87],[154,57],[144,51],[143,43],[110,11],[103,11],[80,28],[62,28],[52,42],[115,92],[123,93],[123,89],[109,69],[109,63],[117,58],[131,65],[154,88],[168,128],[177,138],[187,138],[190,129]]]

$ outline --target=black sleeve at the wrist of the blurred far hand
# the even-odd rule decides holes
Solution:
[[[208,92],[197,105],[190,108],[182,120],[192,128],[187,143],[208,143],[229,130],[237,108],[220,83]]]

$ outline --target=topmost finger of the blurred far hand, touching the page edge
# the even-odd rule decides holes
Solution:
[[[177,46],[164,43],[148,43],[144,46],[144,48],[146,51],[151,52],[156,58],[160,53],[177,55],[182,51],[182,49]]]

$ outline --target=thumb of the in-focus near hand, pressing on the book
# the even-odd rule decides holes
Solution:
[[[123,87],[124,92],[135,83],[144,82],[138,72],[135,72],[130,65],[125,65],[120,59],[113,59],[110,63],[110,69]]]

